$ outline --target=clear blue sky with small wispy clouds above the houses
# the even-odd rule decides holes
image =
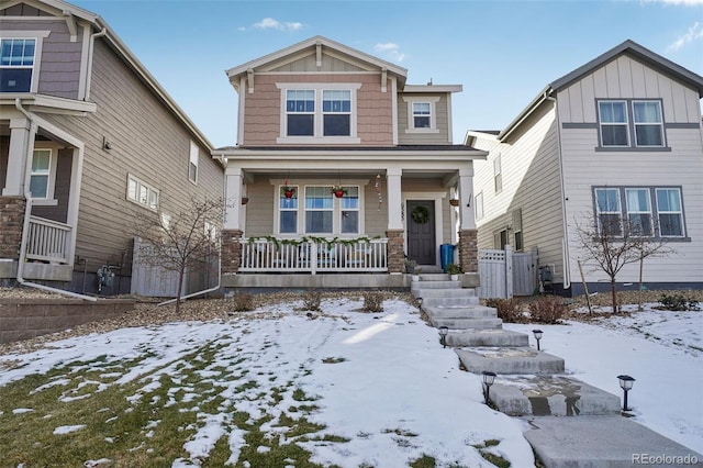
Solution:
[[[101,15],[215,147],[236,142],[225,70],[323,35],[462,85],[454,140],[501,130],[549,82],[629,38],[703,75],[703,0],[76,0]]]

